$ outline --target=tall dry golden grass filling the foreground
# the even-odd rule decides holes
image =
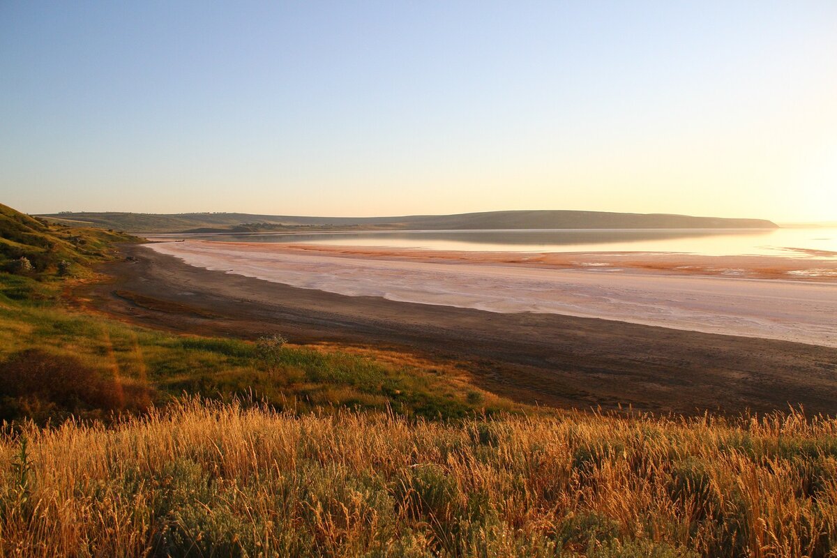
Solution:
[[[2,556],[828,556],[837,421],[187,401],[0,438]]]

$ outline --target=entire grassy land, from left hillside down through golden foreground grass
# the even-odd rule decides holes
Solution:
[[[837,420],[534,409],[410,356],[151,330],[72,296],[136,238],[0,228],[0,558],[837,556]]]

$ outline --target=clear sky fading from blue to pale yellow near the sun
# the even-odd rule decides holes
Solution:
[[[837,221],[837,2],[0,2],[0,202]]]

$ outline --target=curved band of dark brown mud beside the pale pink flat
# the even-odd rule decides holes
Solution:
[[[143,325],[332,341],[455,361],[480,386],[554,407],[837,414],[837,349],[549,314],[496,314],[297,289],[198,269],[128,245],[136,261],[77,293]],[[835,318],[837,319],[837,318]]]

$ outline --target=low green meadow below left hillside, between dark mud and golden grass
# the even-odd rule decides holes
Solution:
[[[62,305],[58,285],[0,274],[0,420],[106,418],[183,393],[314,407],[465,417],[515,407],[464,376],[357,351],[177,335]]]

